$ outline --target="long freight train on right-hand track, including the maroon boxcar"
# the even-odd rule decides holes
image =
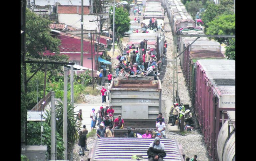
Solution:
[[[161,0],[161,3],[172,32],[177,35],[177,51],[183,52],[180,65],[209,155],[213,160],[226,161],[228,157],[224,155],[227,152],[221,149],[229,148],[233,150],[229,158],[235,160],[234,137],[231,143],[217,146],[218,140],[223,138],[219,133],[221,126],[228,120],[226,111],[235,111],[235,61],[225,58],[218,42],[207,38],[194,41],[194,37],[179,37],[204,33],[196,28],[195,21],[180,0]]]

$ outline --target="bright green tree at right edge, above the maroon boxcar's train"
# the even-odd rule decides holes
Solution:
[[[221,15],[208,23],[206,34],[235,35],[235,15]],[[228,38],[214,38],[219,43],[229,42]]]

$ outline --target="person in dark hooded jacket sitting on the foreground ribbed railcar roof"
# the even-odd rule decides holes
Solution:
[[[160,142],[159,137],[156,137],[154,142],[149,145],[147,155],[149,161],[163,161],[163,158],[166,157],[165,145]]]

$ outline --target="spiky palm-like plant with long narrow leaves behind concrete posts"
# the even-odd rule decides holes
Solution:
[[[78,140],[78,122],[77,117],[75,115],[76,112],[74,111],[74,106],[69,101],[67,103],[67,153],[70,156],[73,146],[77,143]],[[55,106],[55,113],[56,113],[56,130],[57,132],[63,136],[63,103],[58,101],[57,105]],[[46,110],[46,123],[51,125],[51,109]],[[68,157],[69,158],[69,157]]]

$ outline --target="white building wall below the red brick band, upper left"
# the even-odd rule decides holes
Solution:
[[[60,23],[81,29],[81,15],[78,14],[58,14]],[[83,15],[83,29],[84,30],[97,30],[98,27],[95,22],[89,22],[89,20],[96,20],[93,15]]]

